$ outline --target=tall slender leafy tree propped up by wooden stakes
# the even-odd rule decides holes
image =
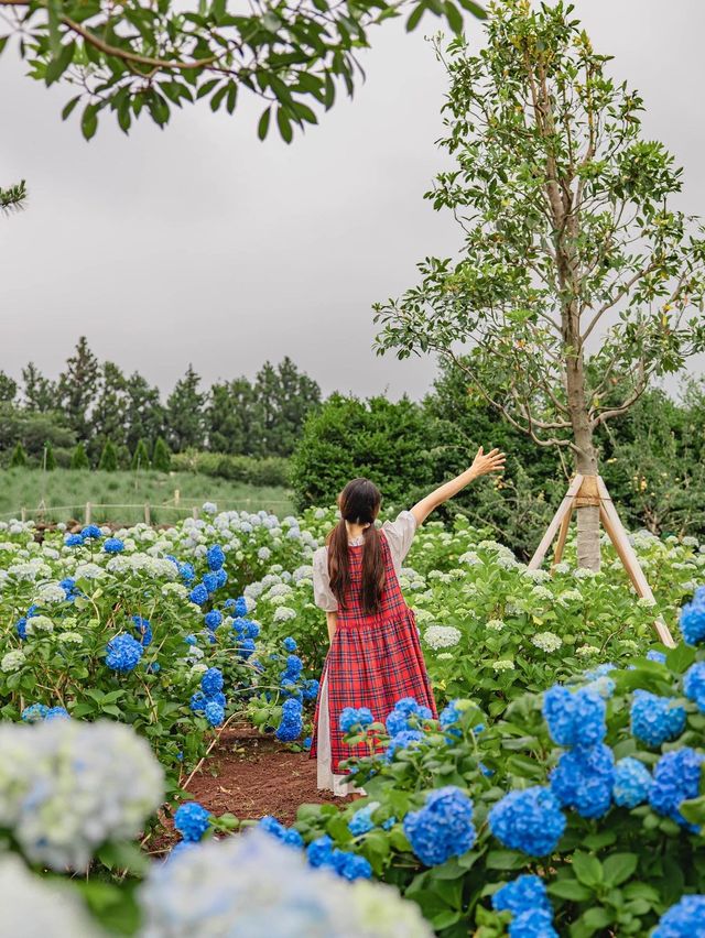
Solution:
[[[572,8],[490,11],[480,55],[451,44],[456,166],[429,194],[464,253],[426,259],[421,286],[377,307],[378,350],[452,359],[512,426],[595,476],[598,427],[705,347],[705,241],[669,203],[681,170],[641,137],[641,98]],[[577,516],[578,564],[598,569],[599,510]]]

